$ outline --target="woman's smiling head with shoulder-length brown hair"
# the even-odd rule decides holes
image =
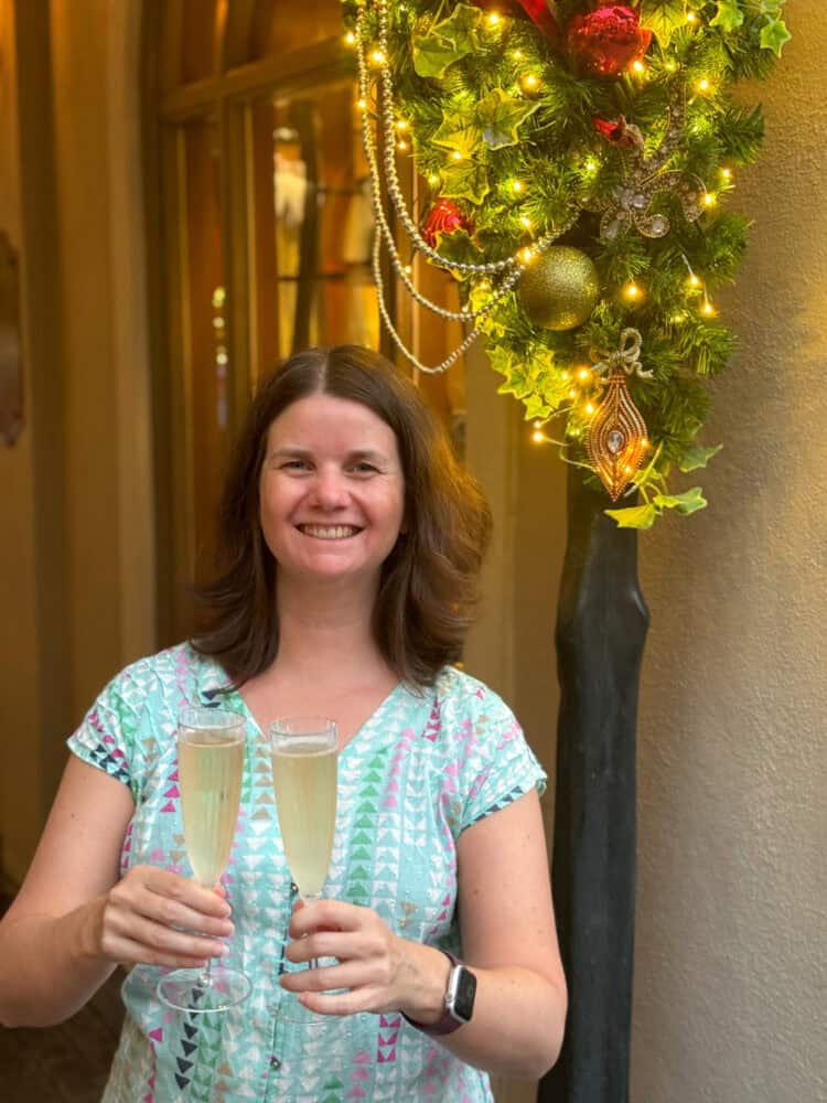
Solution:
[[[314,548],[296,526],[321,522],[364,532]],[[297,353],[262,384],[241,429],[219,514],[223,569],[202,591],[208,621],[196,646],[238,684],[261,674],[278,647],[284,579],[314,549],[316,570],[327,564],[373,587],[362,598],[373,595],[389,666],[429,685],[460,657],[490,527],[442,427],[388,361],[357,345]],[[309,608],[307,588],[301,601]]]

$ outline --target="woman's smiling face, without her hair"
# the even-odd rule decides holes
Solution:
[[[361,403],[299,399],[269,428],[259,503],[280,580],[378,582],[405,513],[394,430]]]

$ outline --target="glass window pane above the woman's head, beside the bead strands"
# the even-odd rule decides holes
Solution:
[[[337,82],[250,107],[259,372],[308,345],[378,344],[354,98]]]

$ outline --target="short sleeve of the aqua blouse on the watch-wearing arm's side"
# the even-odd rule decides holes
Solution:
[[[540,795],[546,789],[546,773],[501,697],[477,683],[469,713],[465,758],[461,763],[466,796],[460,831],[533,789]]]

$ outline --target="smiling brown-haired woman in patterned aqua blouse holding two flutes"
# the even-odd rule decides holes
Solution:
[[[492,1097],[487,1072],[549,1068],[566,988],[544,777],[502,700],[451,665],[488,524],[444,433],[383,357],[312,350],[265,383],[225,488],[206,631],[123,671],[69,740],[0,925],[0,1020],[58,1021],[117,963],[140,966],[105,1096],[118,1101],[475,1103]],[[174,735],[182,704],[216,697],[246,716],[248,753],[214,892],[186,876]],[[325,899],[303,908],[262,736],[290,714],[335,717],[341,740],[343,858]],[[246,1004],[181,1021],[159,1003],[159,966],[225,953],[253,977]],[[284,972],[284,959],[315,957],[336,963]],[[286,989],[324,1029],[279,1016],[296,998]]]

